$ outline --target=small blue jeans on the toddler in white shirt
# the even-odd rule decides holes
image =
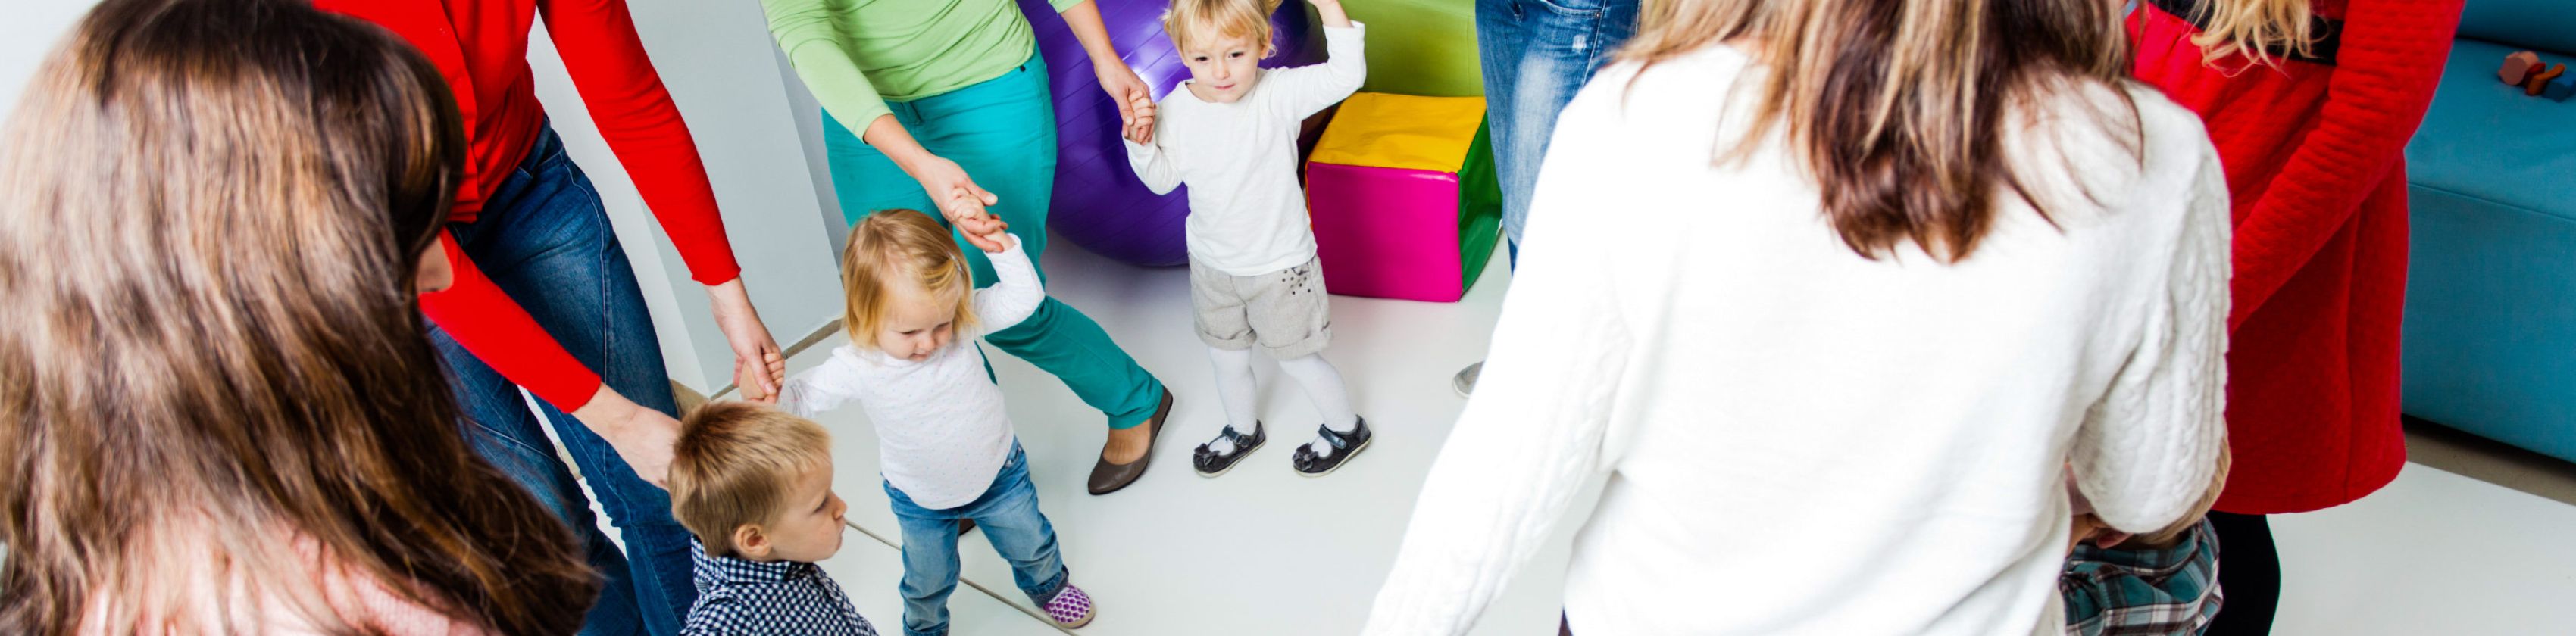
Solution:
[[[948,592],[958,590],[958,520],[974,520],[992,551],[1010,561],[1010,579],[1030,603],[1056,600],[1069,579],[1056,554],[1056,525],[1038,512],[1038,487],[1028,482],[1028,453],[1010,443],[1010,461],[992,476],[984,497],[961,507],[930,510],[886,484],[894,520],[904,525],[904,633],[948,633]]]

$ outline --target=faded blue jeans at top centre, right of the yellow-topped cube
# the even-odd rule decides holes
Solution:
[[[1556,113],[1636,36],[1636,13],[1638,0],[1476,0],[1484,118],[1515,263]]]

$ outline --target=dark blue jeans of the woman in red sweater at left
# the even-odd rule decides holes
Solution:
[[[677,409],[636,273],[608,227],[600,193],[564,157],[554,129],[536,136],[528,160],[502,180],[471,224],[448,224],[448,232],[474,268],[528,309],[574,360],[598,371],[608,389],[649,409]],[[466,427],[474,453],[554,507],[582,541],[590,566],[608,579],[582,633],[677,633],[698,587],[690,582],[688,530],[670,518],[670,492],[636,476],[580,420],[538,402],[544,422],[554,425],[554,435],[590,476],[608,520],[618,525],[626,541],[626,554],[618,554],[518,384],[477,360],[446,330],[430,327],[430,340],[456,379],[456,399],[474,417]]]

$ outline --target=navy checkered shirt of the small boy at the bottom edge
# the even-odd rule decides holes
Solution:
[[[680,633],[876,636],[822,566],[706,556],[698,541],[688,541],[688,554],[698,564],[698,605]]]

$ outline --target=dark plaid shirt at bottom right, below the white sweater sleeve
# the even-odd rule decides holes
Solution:
[[[2218,536],[2202,520],[2169,548],[2079,543],[2058,577],[2069,636],[2200,633],[2218,615]]]

